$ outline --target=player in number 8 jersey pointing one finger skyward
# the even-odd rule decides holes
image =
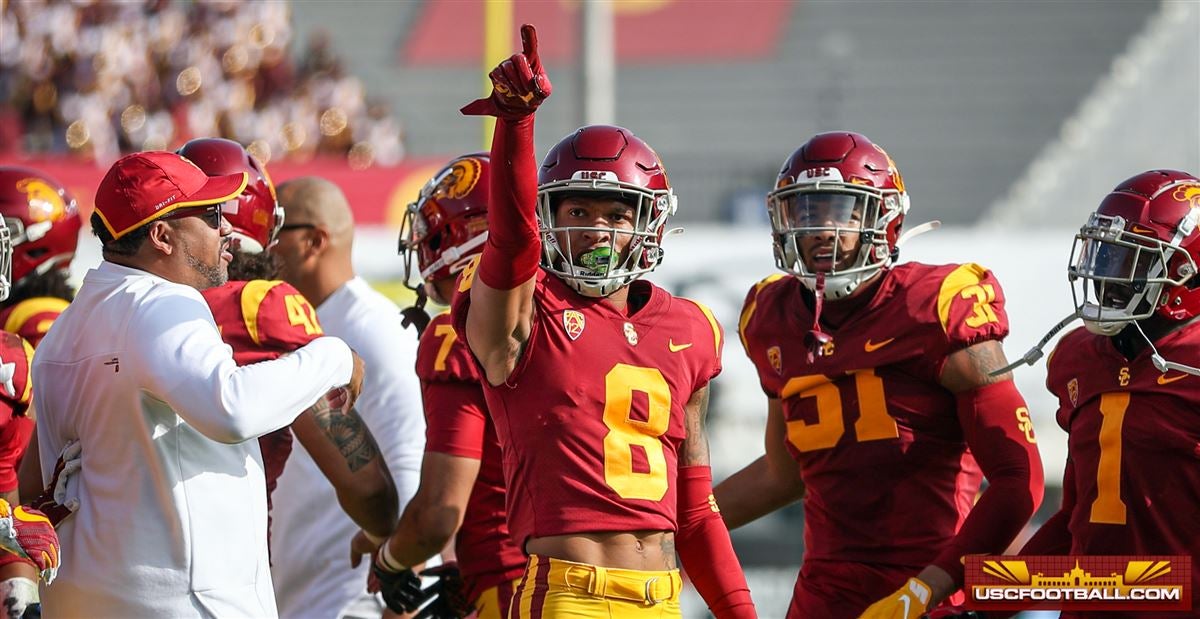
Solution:
[[[534,112],[551,84],[533,26],[521,37],[491,96],[463,108],[497,118],[491,161],[503,164],[452,311],[500,441],[509,529],[529,555],[510,614],[679,617],[678,546],[716,617],[755,617],[712,499],[704,414],[721,329],[641,280],[676,210],[662,163],[628,130],[594,125],[539,172]]]

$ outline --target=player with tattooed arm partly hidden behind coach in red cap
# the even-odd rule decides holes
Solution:
[[[317,312],[295,288],[276,280],[278,266],[266,252],[283,226],[266,168],[236,142],[221,138],[193,139],[179,155],[210,176],[244,172],[248,178],[238,199],[222,208],[233,228],[229,282],[200,292],[234,360],[276,359],[322,336]],[[366,425],[346,407],[342,390],[330,391],[290,426],[259,437],[268,505],[292,453],[293,434],[337,488],[346,513],[377,537],[391,533],[398,505],[391,474]]]

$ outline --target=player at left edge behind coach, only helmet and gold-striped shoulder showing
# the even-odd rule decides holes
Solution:
[[[0,216],[12,241],[12,290],[0,302],[0,329],[37,347],[74,299],[67,276],[83,226],[79,209],[50,176],[0,166]]]

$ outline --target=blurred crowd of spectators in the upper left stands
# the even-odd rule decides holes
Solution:
[[[323,32],[292,58],[290,6],[238,0],[0,0],[0,152],[110,162],[220,136],[262,161],[404,156]]]

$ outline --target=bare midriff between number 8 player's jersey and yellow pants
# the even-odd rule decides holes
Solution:
[[[526,552],[623,570],[674,570],[674,533],[613,531],[533,537]]]

